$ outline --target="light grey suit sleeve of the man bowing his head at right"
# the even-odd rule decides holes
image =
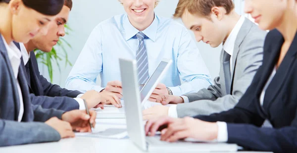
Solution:
[[[225,95],[223,97],[217,98],[216,100],[205,99],[192,103],[178,104],[178,117],[210,115],[234,108],[234,106],[236,106],[241,97],[247,91],[247,88],[250,85],[252,78],[255,76],[258,68],[260,65],[262,65],[264,35],[261,36],[263,37],[254,38],[250,41],[247,41],[245,44],[242,44],[243,46],[238,54],[236,64],[236,67],[238,68],[237,70],[242,71],[242,73],[238,72],[238,74],[235,74],[238,75],[238,79],[234,80],[232,95]],[[196,99],[203,97],[202,95],[209,95],[209,98],[212,98],[211,96],[218,96],[220,93],[219,91],[221,91],[219,89],[220,88],[218,84],[210,86],[207,90],[200,90],[198,93],[196,93]],[[203,92],[205,94],[202,94]],[[193,98],[193,94],[189,94],[187,96],[189,97],[189,100],[195,99]]]

